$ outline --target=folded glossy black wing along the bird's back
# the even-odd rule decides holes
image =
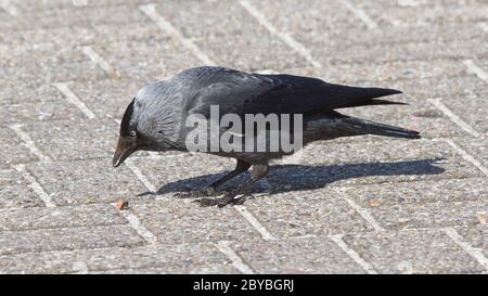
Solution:
[[[373,98],[400,93],[391,89],[331,85],[317,78],[241,72],[221,73],[207,83],[188,102],[189,113],[207,116],[210,105],[219,105],[221,115],[310,114],[367,105]]]

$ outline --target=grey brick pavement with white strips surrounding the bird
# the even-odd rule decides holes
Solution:
[[[484,0],[0,1],[0,273],[487,273],[487,11]],[[409,107],[346,113],[424,139],[314,143],[222,209],[172,193],[229,159],[138,153],[114,170],[133,93],[208,63],[401,89]]]

